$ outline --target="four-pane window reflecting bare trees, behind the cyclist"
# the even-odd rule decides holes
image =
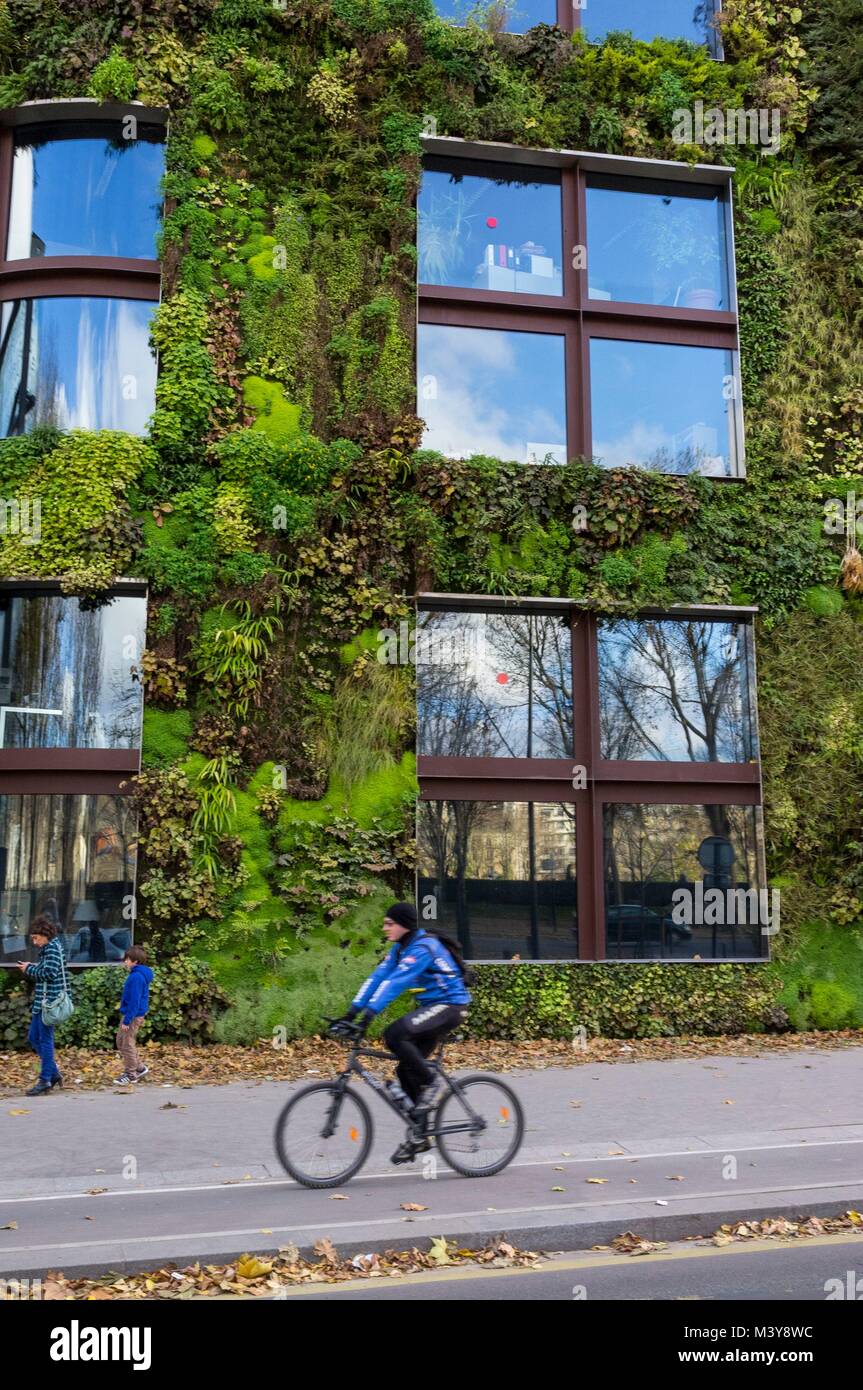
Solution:
[[[750,616],[443,602],[416,642],[427,920],[479,958],[766,954]]]

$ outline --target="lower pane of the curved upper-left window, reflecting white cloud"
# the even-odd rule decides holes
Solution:
[[[139,299],[0,304],[0,435],[36,425],[143,434],[156,399],[154,310]]]

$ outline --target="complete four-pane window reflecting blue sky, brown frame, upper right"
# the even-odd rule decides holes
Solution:
[[[742,477],[728,175],[479,149],[431,139],[418,195],[425,446]]]

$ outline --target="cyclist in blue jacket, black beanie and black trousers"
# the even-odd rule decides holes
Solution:
[[[438,1098],[436,1073],[425,1062],[435,1045],[459,1027],[471,1002],[464,983],[464,963],[454,941],[446,945],[417,924],[410,902],[393,902],[384,917],[384,935],[392,949],[357,991],[345,1017],[332,1026],[336,1036],[363,1033],[375,1015],[406,990],[421,995],[413,1013],[391,1023],[384,1041],[399,1059],[396,1076],[413,1102],[411,1118],[422,1125]],[[393,1162],[407,1162],[431,1145],[402,1144]]]

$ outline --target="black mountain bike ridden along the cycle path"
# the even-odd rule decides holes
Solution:
[[[335,1019],[325,1019],[328,1024]],[[421,1119],[410,1102],[393,1099],[386,1086],[360,1058],[397,1061],[368,1047],[361,1034],[343,1040],[350,1048],[345,1069],[332,1081],[313,1081],[288,1101],[275,1122],[275,1150],[290,1177],[303,1187],[340,1187],[359,1173],[371,1152],[374,1122],[368,1105],[350,1086],[364,1081],[407,1123],[407,1143],[422,1152],[432,1140],[442,1158],[463,1177],[491,1177],[513,1161],[524,1138],[518,1097],[496,1076],[453,1077],[443,1070],[446,1040],[427,1058],[443,1087],[432,1112]]]

